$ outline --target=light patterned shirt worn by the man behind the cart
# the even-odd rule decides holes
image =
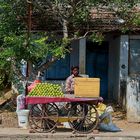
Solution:
[[[65,90],[67,93],[73,93],[74,92],[74,75],[70,75],[67,79],[66,79],[66,86],[65,86]]]

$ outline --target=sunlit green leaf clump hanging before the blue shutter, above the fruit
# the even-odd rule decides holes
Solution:
[[[57,59],[64,58],[65,54],[68,52],[66,48],[69,44],[68,39],[55,37],[49,37],[45,34],[37,35],[34,34],[30,40],[30,46],[28,50],[30,52],[30,60],[46,59],[47,56],[56,57]]]

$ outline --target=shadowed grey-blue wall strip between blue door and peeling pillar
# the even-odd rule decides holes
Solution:
[[[109,99],[119,99],[120,37],[112,37],[109,45]]]

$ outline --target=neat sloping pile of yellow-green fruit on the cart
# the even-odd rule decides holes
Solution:
[[[52,83],[39,83],[36,87],[28,94],[28,96],[49,96],[49,97],[62,97],[61,86]]]

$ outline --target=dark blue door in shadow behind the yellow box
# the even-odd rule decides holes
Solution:
[[[86,74],[100,78],[100,96],[104,99],[108,98],[108,49],[107,42],[102,45],[87,42]]]

